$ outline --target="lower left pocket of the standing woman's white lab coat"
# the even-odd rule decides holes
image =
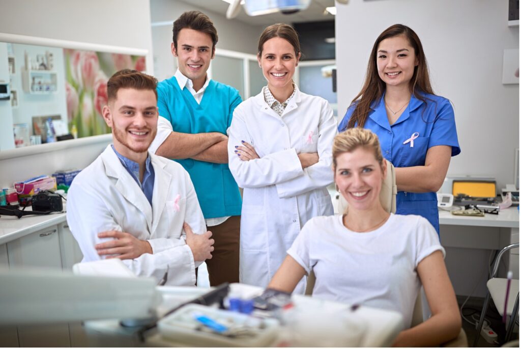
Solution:
[[[244,205],[241,214],[241,250],[261,251],[268,245],[263,206]]]

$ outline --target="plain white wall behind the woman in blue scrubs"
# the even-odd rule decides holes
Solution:
[[[374,41],[402,23],[421,39],[433,88],[454,103],[462,152],[449,175],[487,175],[513,183],[519,147],[519,85],[502,85],[503,50],[519,48],[507,26],[507,0],[351,0],[337,4],[339,115],[362,87]],[[514,72],[512,72],[513,74]]]

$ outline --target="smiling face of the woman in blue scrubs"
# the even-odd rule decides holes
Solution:
[[[408,86],[418,60],[414,49],[404,35],[384,39],[376,52],[378,75],[387,88]]]

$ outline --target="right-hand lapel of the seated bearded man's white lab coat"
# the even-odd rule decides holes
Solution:
[[[149,154],[149,156],[151,157],[152,166],[154,167],[155,172],[154,191],[152,195],[152,230],[150,231],[150,234],[153,235],[165,208],[166,199],[170,192],[172,175],[165,171],[166,163],[159,161],[151,154]]]

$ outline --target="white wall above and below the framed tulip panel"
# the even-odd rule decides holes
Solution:
[[[148,69],[153,68],[149,0],[0,0],[0,32],[144,49]],[[0,160],[0,187],[85,167],[106,143]]]

